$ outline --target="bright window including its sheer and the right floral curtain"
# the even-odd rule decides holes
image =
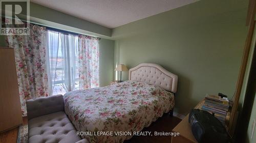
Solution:
[[[99,87],[99,38],[47,30],[49,94]]]

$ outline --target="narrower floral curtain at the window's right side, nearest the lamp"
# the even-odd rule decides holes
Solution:
[[[99,38],[79,35],[79,88],[99,87]]]

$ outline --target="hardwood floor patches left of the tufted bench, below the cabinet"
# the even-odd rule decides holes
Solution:
[[[27,117],[23,117],[23,125],[28,124]],[[0,134],[0,143],[16,143],[18,127]]]

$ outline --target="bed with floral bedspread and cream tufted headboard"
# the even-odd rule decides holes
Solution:
[[[129,80],[66,93],[65,111],[82,138],[91,143],[123,142],[174,107],[177,75],[157,64],[129,70]],[[112,134],[111,134],[112,133]]]

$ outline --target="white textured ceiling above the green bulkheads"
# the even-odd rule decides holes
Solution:
[[[199,0],[30,0],[33,3],[114,28]]]

